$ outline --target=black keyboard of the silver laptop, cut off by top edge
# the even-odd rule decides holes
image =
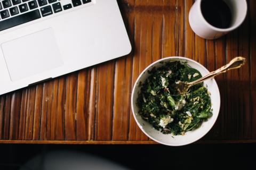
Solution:
[[[62,5],[57,0],[3,0],[0,1],[0,31],[30,22],[54,13],[90,3],[91,0],[70,0]]]

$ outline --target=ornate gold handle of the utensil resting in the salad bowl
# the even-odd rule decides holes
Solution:
[[[220,67],[220,69],[212,71],[209,74],[206,74],[204,77],[202,77],[198,80],[195,80],[193,82],[189,82],[188,86],[193,86],[193,85],[195,85],[197,83],[201,83],[205,80],[212,79],[212,78],[216,77],[217,75],[219,75],[221,73],[225,73],[229,70],[238,69],[241,66],[243,66],[245,64],[245,62],[246,62],[246,59],[244,57],[235,57],[227,65],[224,65],[224,66]]]

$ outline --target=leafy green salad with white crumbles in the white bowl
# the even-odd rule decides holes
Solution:
[[[162,63],[148,71],[149,77],[140,82],[137,98],[139,114],[164,134],[185,134],[201,126],[212,116],[210,92],[203,83],[179,94],[174,87],[178,81],[191,82],[201,73],[179,61]]]

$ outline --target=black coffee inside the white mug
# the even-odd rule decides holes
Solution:
[[[231,22],[231,11],[222,0],[202,0],[201,11],[204,19],[217,28],[228,28]]]

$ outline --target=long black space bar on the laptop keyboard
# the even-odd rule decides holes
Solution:
[[[22,23],[30,22],[41,18],[39,10],[29,11],[27,13],[14,16],[0,22],[0,31],[15,27]]]

